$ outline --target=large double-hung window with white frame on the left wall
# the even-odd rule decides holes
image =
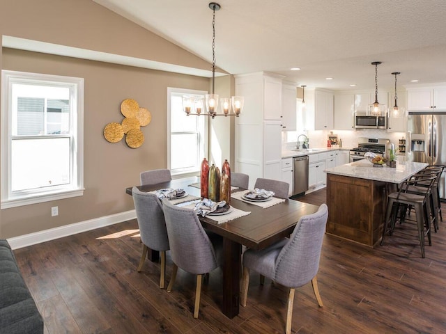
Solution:
[[[83,193],[84,79],[2,71],[1,209]]]

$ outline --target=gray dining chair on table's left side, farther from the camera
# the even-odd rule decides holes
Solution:
[[[160,288],[164,288],[166,250],[169,250],[169,239],[161,202],[154,193],[144,193],[139,191],[136,186],[132,188],[132,197],[143,244],[137,271],[141,271],[144,265],[148,248],[158,250],[161,255]]]

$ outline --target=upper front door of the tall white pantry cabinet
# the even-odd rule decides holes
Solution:
[[[263,118],[282,120],[282,81],[263,77]]]

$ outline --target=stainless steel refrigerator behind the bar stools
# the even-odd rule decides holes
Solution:
[[[446,113],[411,112],[408,116],[406,150],[408,161],[446,164]],[[446,200],[446,181],[443,173],[440,198]]]

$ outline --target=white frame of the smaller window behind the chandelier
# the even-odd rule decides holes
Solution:
[[[208,94],[205,90],[192,90],[184,88],[167,88],[167,168],[171,170],[171,95],[172,94],[184,94],[184,95],[206,95]],[[201,117],[204,118],[204,133],[203,133],[203,158],[207,158],[208,152],[208,116],[188,116],[188,117]],[[200,166],[197,170],[187,170],[187,171],[176,171],[171,170],[172,177],[187,177],[199,175]]]

